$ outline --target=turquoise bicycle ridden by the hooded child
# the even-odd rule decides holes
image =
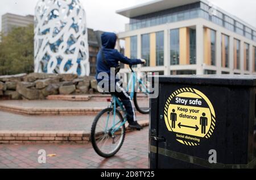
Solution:
[[[131,90],[130,97],[139,112],[149,114],[149,86],[143,82],[143,78],[137,77],[131,66],[130,69],[132,76],[127,86],[127,89]],[[90,135],[94,150],[105,158],[114,156],[121,149],[125,140],[127,122],[127,112],[122,102],[115,95],[112,95],[112,100],[108,99],[108,102],[110,102],[109,107],[102,110],[94,119]]]

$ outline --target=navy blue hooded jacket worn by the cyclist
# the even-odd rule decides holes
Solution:
[[[115,48],[115,43],[117,41],[117,35],[111,32],[105,32],[101,35],[101,41],[102,41],[102,48],[101,51],[103,51],[105,60],[108,62],[106,64],[102,60],[101,51],[98,52],[97,55],[97,74],[96,79],[98,82],[100,82],[102,79],[98,78],[98,74],[105,72],[108,73],[110,81],[110,67],[111,68],[117,68],[118,62],[121,61],[123,64],[129,64],[129,65],[136,65],[141,64],[142,61],[139,59],[130,59],[125,56],[123,56],[121,53],[119,53]],[[107,80],[107,79],[104,79]]]

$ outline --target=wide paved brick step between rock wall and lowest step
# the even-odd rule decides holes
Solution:
[[[0,101],[0,111],[22,115],[97,115],[109,106],[106,101]],[[138,112],[137,112],[138,114]]]

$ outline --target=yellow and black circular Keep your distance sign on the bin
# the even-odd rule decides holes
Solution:
[[[175,133],[179,143],[200,145],[212,136],[216,116],[212,103],[199,90],[185,87],[172,93],[164,107],[168,131]]]

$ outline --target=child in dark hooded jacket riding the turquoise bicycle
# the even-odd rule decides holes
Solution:
[[[145,64],[146,61],[127,58],[114,49],[117,41],[117,35],[114,33],[105,32],[101,35],[101,41],[102,48],[97,55],[97,82],[100,83],[101,81],[104,81],[108,83],[109,87],[115,87],[113,92],[110,91],[109,87],[104,87],[104,91],[110,92],[112,95],[115,95],[121,99],[127,111],[127,121],[129,122],[129,127],[140,130],[142,127],[137,122],[133,102],[131,101],[129,93],[123,89],[123,87],[121,87],[119,83],[120,80],[118,78],[115,78],[115,81],[112,82],[110,77],[115,77],[115,72],[113,72],[111,68],[118,68],[119,61],[128,65]],[[102,76],[99,76],[101,73],[107,73],[108,77],[103,76],[104,78],[102,78]]]

